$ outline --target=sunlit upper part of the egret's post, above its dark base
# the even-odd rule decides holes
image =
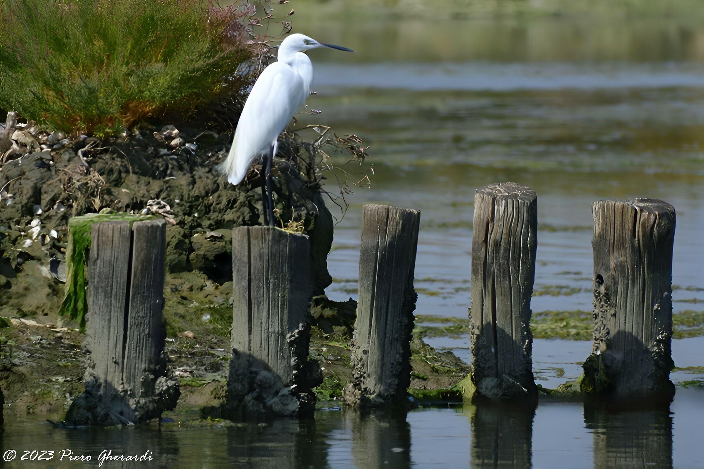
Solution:
[[[232,230],[232,348],[265,361],[293,385],[304,363],[296,332],[309,324],[308,237],[269,226]]]

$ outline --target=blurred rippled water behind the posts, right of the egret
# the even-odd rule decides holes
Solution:
[[[474,189],[516,181],[539,197],[536,290],[570,291],[534,297],[534,311],[591,309],[591,203],[630,197],[677,209],[674,309],[701,309],[691,301],[704,301],[704,23],[482,20],[467,2],[417,3],[296,6],[297,32],[358,51],[310,53],[319,94],[308,105],[322,114],[299,122],[371,146],[365,165],[343,167],[371,184],[338,214],[329,294],[356,297],[361,206],[413,207],[418,311],[466,317]]]

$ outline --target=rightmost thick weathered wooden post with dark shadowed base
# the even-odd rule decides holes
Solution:
[[[594,331],[584,373],[617,399],[670,401],[675,211],[662,200],[598,200]]]

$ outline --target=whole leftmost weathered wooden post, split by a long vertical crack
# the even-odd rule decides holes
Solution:
[[[139,423],[174,409],[178,381],[166,373],[165,221],[106,221],[90,228],[85,392],[66,421]]]

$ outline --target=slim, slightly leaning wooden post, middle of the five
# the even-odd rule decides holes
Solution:
[[[381,406],[406,398],[420,212],[365,205],[359,255],[359,300],[353,338],[354,382],[348,404]]]

